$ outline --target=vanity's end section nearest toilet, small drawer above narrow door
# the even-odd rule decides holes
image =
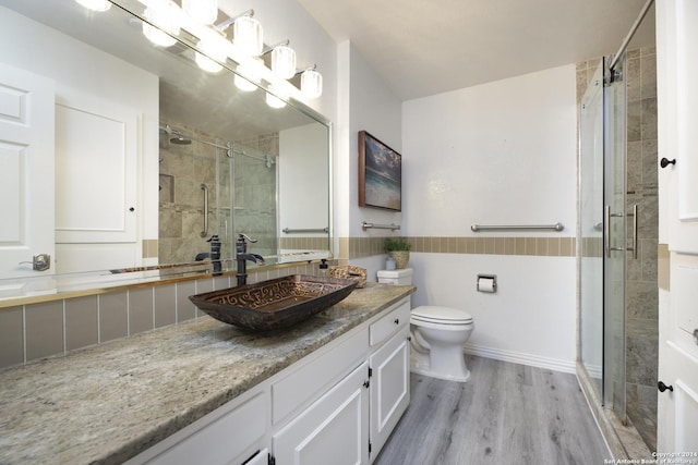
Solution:
[[[371,462],[410,403],[409,299],[370,327]]]

